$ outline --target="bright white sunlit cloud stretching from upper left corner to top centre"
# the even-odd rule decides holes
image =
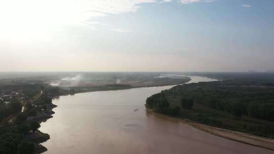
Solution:
[[[79,0],[70,1],[70,3],[67,3],[66,0],[42,2],[35,0],[3,1],[0,5],[0,19],[2,20],[0,33],[2,33],[1,29],[18,29],[19,31],[26,31],[26,29],[33,31],[33,29],[36,29],[37,31],[45,31],[49,29],[58,30],[68,25],[82,24],[87,26],[83,22],[88,21],[92,17],[137,12],[142,4],[159,2],[169,2],[169,0]],[[20,23],[21,29],[20,27],[18,28],[18,23]]]

